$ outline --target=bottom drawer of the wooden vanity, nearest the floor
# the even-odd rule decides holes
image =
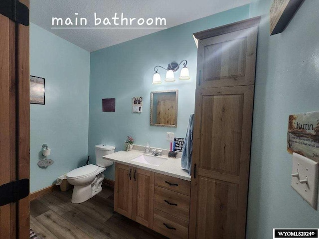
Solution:
[[[153,230],[170,239],[187,239],[188,222],[154,209]]]

